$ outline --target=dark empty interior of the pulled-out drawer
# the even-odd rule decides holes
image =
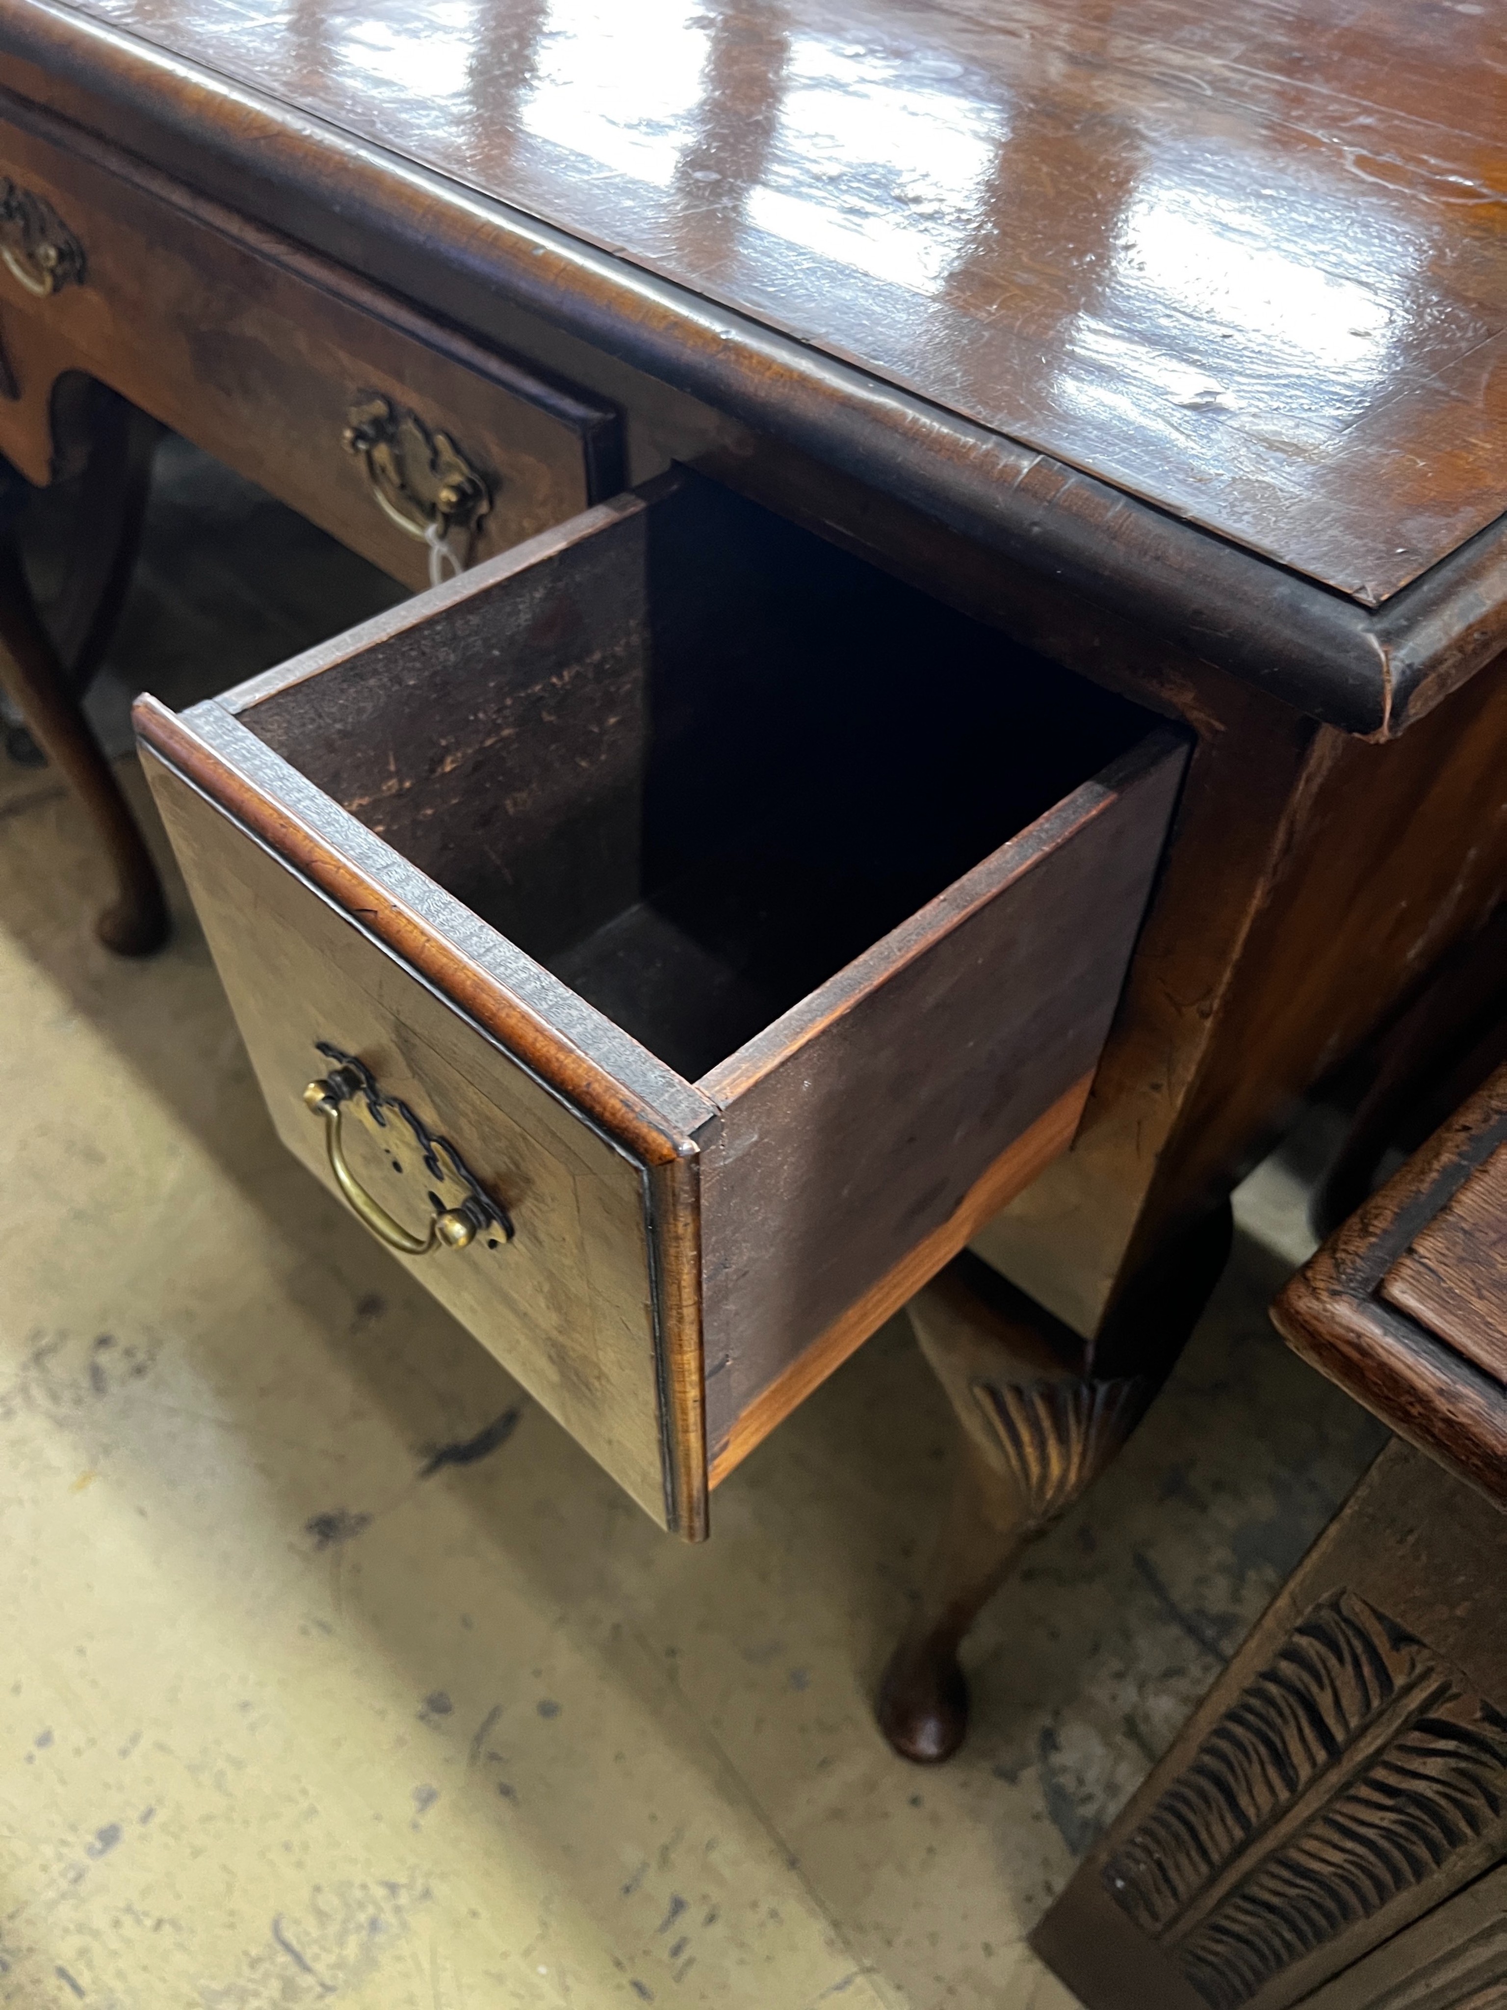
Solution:
[[[241,720],[695,1081],[1151,722],[701,476],[643,496]]]

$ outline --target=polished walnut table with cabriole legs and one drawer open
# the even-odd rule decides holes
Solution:
[[[6,675],[145,951],[76,689],[153,424],[426,589],[141,714],[273,1114],[334,1182],[358,1083],[370,1220],[470,1222],[400,1260],[685,1536],[971,1244],[934,1759],[1230,1188],[1507,884],[1495,24],[619,32],[0,0],[8,498],[96,476]]]

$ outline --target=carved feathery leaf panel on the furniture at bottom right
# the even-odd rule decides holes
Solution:
[[[1314,1606],[1103,1867],[1210,2010],[1507,1817],[1507,1719],[1350,1592]]]

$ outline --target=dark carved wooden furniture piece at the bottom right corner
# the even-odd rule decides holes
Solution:
[[[1035,1946],[1087,2010],[1491,2010],[1507,2000],[1507,1067],[1272,1317],[1398,1441]]]

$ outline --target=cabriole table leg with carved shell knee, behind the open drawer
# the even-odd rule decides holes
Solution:
[[[1228,1254],[1222,1206],[1145,1274],[1093,1347],[971,1254],[910,1300],[960,1449],[916,1614],[880,1684],[880,1731],[902,1759],[936,1765],[962,1743],[968,1684],[958,1648],[968,1628],[1021,1550],[1073,1505],[1141,1421]]]

